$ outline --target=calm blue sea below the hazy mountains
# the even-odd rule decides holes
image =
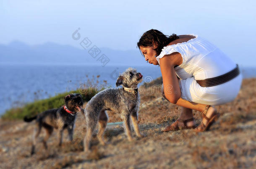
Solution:
[[[115,88],[129,66],[69,64],[0,64],[0,115],[10,108],[84,87]],[[161,76],[159,66],[133,66],[150,82]],[[243,78],[256,78],[256,67],[240,67]]]

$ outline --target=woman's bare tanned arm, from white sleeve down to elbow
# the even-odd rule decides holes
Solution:
[[[181,96],[178,78],[174,66],[180,65],[180,53],[172,53],[160,58],[160,68],[163,77],[165,97],[173,104],[176,104]]]

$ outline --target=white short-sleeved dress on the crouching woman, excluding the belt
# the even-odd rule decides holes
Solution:
[[[159,59],[164,55],[174,52],[181,54],[183,62],[174,68],[180,78],[181,98],[212,106],[234,100],[238,95],[243,79],[241,70],[238,76],[226,83],[212,87],[201,87],[196,80],[223,75],[234,69],[236,63],[207,40],[198,35],[189,35],[196,38],[187,42],[168,45],[156,57],[160,65]]]

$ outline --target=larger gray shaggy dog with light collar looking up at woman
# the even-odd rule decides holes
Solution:
[[[84,139],[84,151],[90,149],[91,135],[97,122],[99,122],[97,137],[101,144],[105,144],[102,136],[108,120],[106,110],[121,114],[129,141],[133,140],[131,136],[130,116],[136,135],[138,137],[142,136],[138,127],[138,110],[140,105],[138,83],[141,83],[141,81],[141,73],[137,73],[134,68],[128,68],[116,81],[116,86],[121,85],[123,88],[108,88],[91,98],[84,110],[87,127]]]

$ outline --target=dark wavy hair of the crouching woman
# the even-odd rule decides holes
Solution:
[[[164,35],[162,32],[156,29],[151,29],[146,31],[140,38],[140,40],[137,43],[137,47],[150,47],[153,46],[153,43],[157,45],[157,48],[154,50],[157,51],[157,56],[160,55],[162,48],[164,46],[168,45],[171,41],[178,39],[179,37],[176,34],[172,34],[170,36]],[[143,55],[141,53],[141,55]],[[144,55],[143,55],[144,56]]]

